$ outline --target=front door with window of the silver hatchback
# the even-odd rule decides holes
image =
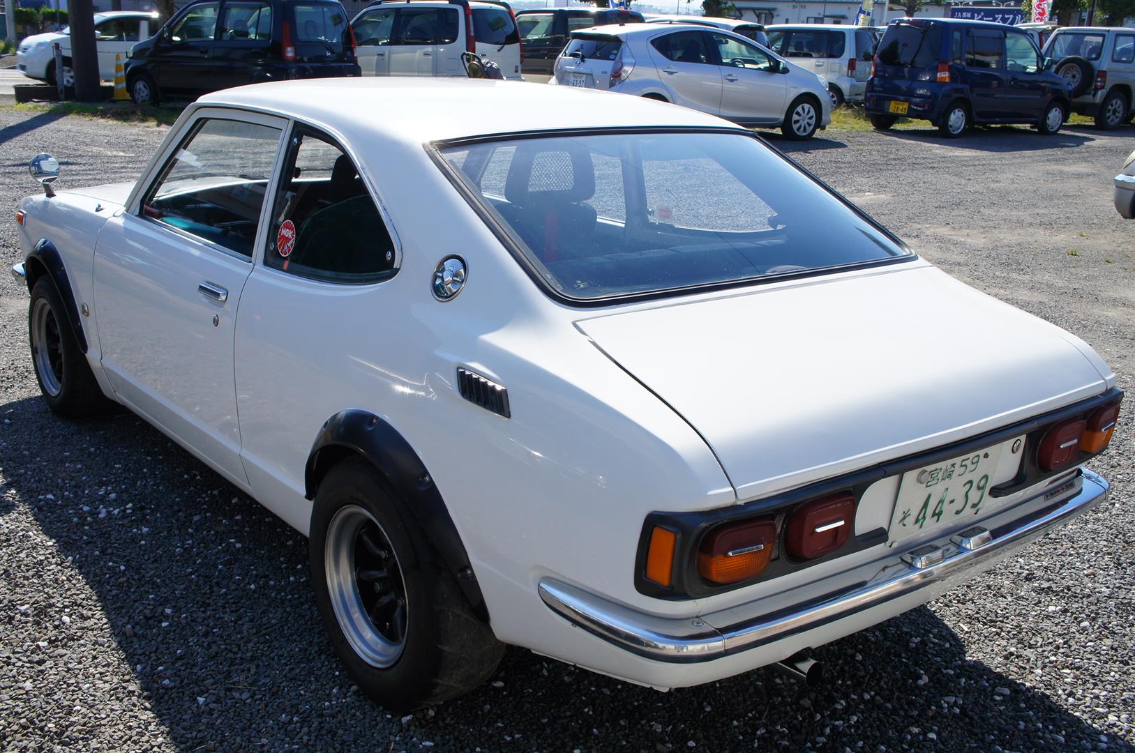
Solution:
[[[788,76],[756,44],[711,32],[721,64],[721,115],[730,120],[776,124],[788,107]]]

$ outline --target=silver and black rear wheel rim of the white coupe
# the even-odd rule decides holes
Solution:
[[[386,532],[347,505],[331,518],[323,548],[327,591],[347,643],[372,667],[389,667],[406,644],[406,589]]]

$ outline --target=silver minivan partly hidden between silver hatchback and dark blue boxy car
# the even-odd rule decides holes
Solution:
[[[833,108],[844,102],[863,102],[878,44],[874,29],[838,24],[777,24],[766,31],[773,52],[827,82]]]

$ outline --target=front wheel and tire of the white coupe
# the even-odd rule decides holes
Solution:
[[[100,415],[112,408],[115,404],[99,388],[67,319],[67,307],[48,277],[32,287],[27,336],[35,380],[48,407],[68,418]]]

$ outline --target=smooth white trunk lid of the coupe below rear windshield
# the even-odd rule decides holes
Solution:
[[[1074,336],[928,264],[577,327],[701,434],[741,500],[1008,425],[1113,379]]]

